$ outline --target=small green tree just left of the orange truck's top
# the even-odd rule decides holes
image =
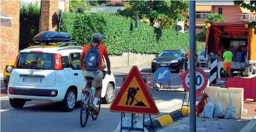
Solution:
[[[220,14],[209,14],[207,15],[207,18],[205,19],[205,24],[209,22],[225,22],[223,15]],[[203,27],[203,32],[197,32],[195,34],[195,40],[200,41],[200,42],[205,42],[206,38],[206,28]]]

